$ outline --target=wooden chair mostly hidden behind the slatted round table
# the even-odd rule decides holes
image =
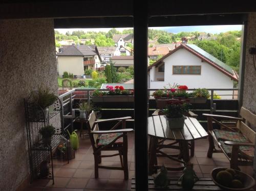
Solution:
[[[163,115],[162,109],[166,107],[166,104],[168,101],[173,100],[173,99],[156,99],[156,111],[152,113],[152,115]],[[189,117],[194,117],[197,118],[198,115],[193,113],[192,111],[188,111],[188,113],[185,114],[186,116]],[[168,146],[173,146],[178,144],[178,141],[173,142],[172,144],[168,144]],[[150,142],[151,145],[151,142]],[[172,147],[170,147],[172,148]],[[175,147],[174,147],[175,148]],[[190,149],[190,156],[193,157],[195,154],[195,141],[191,140],[189,143],[189,149]]]

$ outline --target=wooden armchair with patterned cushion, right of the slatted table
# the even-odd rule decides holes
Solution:
[[[223,152],[230,161],[230,168],[239,169],[238,165],[252,165],[256,132],[250,127],[256,127],[256,115],[241,107],[239,117],[203,114],[207,116],[209,149],[207,156],[212,153]],[[217,120],[218,119],[218,120]],[[224,121],[236,121],[236,128],[224,124]],[[220,129],[213,129],[212,124],[220,125]],[[221,150],[215,148],[214,142]]]

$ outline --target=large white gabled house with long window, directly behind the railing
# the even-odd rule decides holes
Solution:
[[[177,83],[193,88],[233,88],[238,75],[231,67],[195,44],[181,44],[148,66],[148,88],[160,89]],[[217,94],[232,94],[216,91]],[[232,96],[221,96],[229,99]]]

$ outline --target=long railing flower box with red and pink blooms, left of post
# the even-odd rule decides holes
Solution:
[[[109,91],[94,90],[91,95],[93,102],[134,102],[133,90],[126,90],[123,86],[106,86]]]

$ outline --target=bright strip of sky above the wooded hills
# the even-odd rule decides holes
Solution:
[[[55,29],[62,34],[66,34],[67,31],[73,32],[77,30],[83,30],[84,32],[88,31],[103,31],[108,32],[111,28],[97,28],[97,29]],[[116,28],[118,31],[122,32],[124,29],[131,28]],[[216,25],[216,26],[184,26],[184,27],[151,27],[150,29],[163,30],[170,33],[179,33],[179,32],[206,32],[206,33],[221,33],[227,31],[240,31],[242,29],[242,25]]]

